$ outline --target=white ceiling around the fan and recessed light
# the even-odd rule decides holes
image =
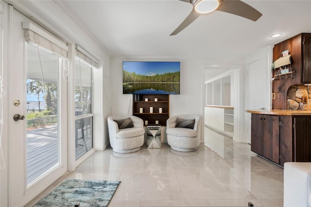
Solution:
[[[58,0],[112,57],[243,59],[268,45],[311,32],[311,0],[244,0],[258,21],[215,11],[170,34],[192,6],[180,0]],[[282,33],[278,38],[271,38]]]

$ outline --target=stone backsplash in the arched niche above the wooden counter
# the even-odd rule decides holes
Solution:
[[[311,86],[291,86],[287,91],[287,109],[311,110]]]

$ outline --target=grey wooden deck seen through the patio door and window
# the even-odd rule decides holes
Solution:
[[[58,127],[46,126],[27,131],[27,183],[31,183],[37,177],[57,166],[58,160]],[[84,129],[87,150],[92,148],[90,130]],[[78,129],[78,138],[82,137],[81,129]],[[78,139],[76,147],[76,159],[86,153],[83,139]]]

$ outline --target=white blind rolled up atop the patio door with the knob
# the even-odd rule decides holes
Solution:
[[[39,46],[42,50],[48,50],[61,57],[68,58],[68,46],[63,40],[48,33],[31,22],[23,22],[24,37],[28,44]]]

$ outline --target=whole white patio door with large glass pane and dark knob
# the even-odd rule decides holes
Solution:
[[[46,39],[31,30],[34,22],[11,12],[10,205],[24,206],[68,169],[67,82],[62,75],[67,60],[44,47]]]

